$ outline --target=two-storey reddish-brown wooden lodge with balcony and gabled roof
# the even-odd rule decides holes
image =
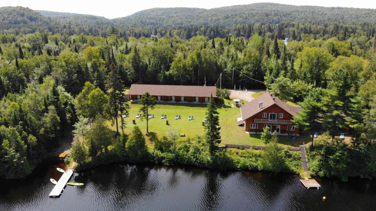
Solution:
[[[244,125],[246,133],[261,134],[265,127],[269,127],[271,132],[276,131],[278,135],[299,136],[299,128],[292,121],[299,111],[300,107],[289,106],[265,92],[240,108],[238,125]]]

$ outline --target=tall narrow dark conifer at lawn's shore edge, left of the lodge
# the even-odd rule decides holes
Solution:
[[[205,142],[209,146],[211,153],[213,153],[216,146],[221,143],[221,135],[219,132],[221,127],[219,127],[218,114],[213,95],[210,95],[208,111],[205,113],[207,118],[205,122]]]

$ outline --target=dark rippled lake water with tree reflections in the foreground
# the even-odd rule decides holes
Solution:
[[[291,174],[128,163],[75,173],[85,186],[49,198],[56,167],[51,158],[25,179],[0,180],[0,210],[376,210],[375,181],[322,179],[307,190]]]

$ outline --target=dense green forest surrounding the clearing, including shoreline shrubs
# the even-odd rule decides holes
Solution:
[[[376,175],[376,25],[372,15],[362,19],[373,10],[356,9],[355,15],[349,9],[341,21],[325,8],[328,14],[320,18],[327,20],[276,16],[275,22],[243,25],[229,17],[225,26],[151,27],[102,24],[100,17],[75,14],[65,17],[86,18],[87,24],[63,23],[53,18],[62,14],[0,9],[2,177],[29,174],[72,126],[86,139],[72,152],[82,168],[125,159],[299,173],[299,154],[283,152],[273,134],[265,152],[216,151],[214,102],[208,106],[213,124],[206,135],[185,145],[147,149],[137,127],[129,137],[112,138],[105,121],[123,127],[120,117],[129,109],[123,91],[130,84],[215,86],[220,74],[222,87],[266,88],[302,105],[294,119],[302,130],[328,131],[308,151],[312,175],[343,180]],[[96,20],[101,23],[93,24]],[[92,128],[84,133],[87,122]],[[349,126],[350,144],[334,138]]]

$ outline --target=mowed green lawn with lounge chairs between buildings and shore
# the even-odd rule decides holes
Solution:
[[[218,106],[221,137],[222,142],[232,144],[246,144],[246,145],[264,145],[260,139],[259,134],[246,134],[243,127],[237,125],[237,118],[240,117],[240,109],[232,107],[228,103],[233,104],[233,101],[225,100],[223,106]],[[136,118],[139,113],[141,105],[137,102],[130,104],[131,109],[129,117],[124,118],[126,121],[126,128],[124,132],[130,134],[133,127],[138,125],[141,130],[146,133],[146,120]],[[155,109],[150,110],[150,114],[154,114],[155,118],[149,119],[149,132],[153,134],[153,138],[158,137],[162,139],[166,136],[169,128],[174,128],[178,133],[184,133],[185,137],[179,137],[178,144],[186,141],[188,137],[203,136],[205,133],[202,121],[205,119],[207,104],[192,104],[192,103],[160,103],[158,102]],[[167,115],[167,119],[161,119],[161,116]],[[180,115],[181,119],[175,119],[176,115]],[[188,116],[194,116],[194,120],[188,120]],[[136,120],[136,124],[132,124],[132,119]],[[168,120],[168,125],[166,124]],[[115,125],[111,126],[112,130],[116,131]],[[120,130],[120,120],[119,120]],[[151,136],[148,138],[148,145],[153,145]],[[289,139],[285,136],[279,136],[279,143],[282,146],[299,146],[302,142],[308,142],[309,136],[301,136],[296,140]],[[307,141],[308,140],[308,141]]]

